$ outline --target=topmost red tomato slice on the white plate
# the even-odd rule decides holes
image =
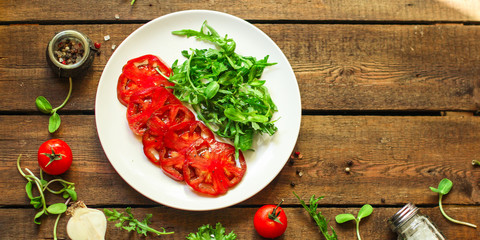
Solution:
[[[120,103],[127,106],[132,94],[138,90],[174,85],[155,68],[158,68],[165,76],[170,76],[172,72],[162,60],[154,55],[145,55],[128,61],[123,66],[117,83],[117,98]],[[169,89],[169,91],[173,90]]]

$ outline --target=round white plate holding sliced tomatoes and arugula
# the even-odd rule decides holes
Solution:
[[[174,30],[200,30],[207,21],[221,36],[228,34],[237,43],[236,52],[261,59],[270,55],[262,75],[278,107],[274,119],[278,131],[256,138],[254,149],[245,153],[247,171],[242,181],[226,194],[209,197],[193,192],[185,183],[166,176],[143,153],[141,139],[128,127],[126,107],[117,99],[117,80],[125,63],[145,54],[154,54],[168,65],[183,63],[182,50],[214,48],[195,38],[171,34]],[[172,208],[205,211],[242,202],[267,186],[287,162],[300,130],[300,91],[292,67],[280,48],[252,24],[225,13],[189,10],[171,13],[135,30],[112,54],[100,78],[95,102],[95,120],[103,150],[120,176],[144,196]]]

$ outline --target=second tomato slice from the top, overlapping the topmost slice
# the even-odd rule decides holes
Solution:
[[[181,104],[164,87],[152,87],[135,92],[127,106],[127,121],[130,129],[142,135],[147,129],[147,121],[156,109],[169,104]]]

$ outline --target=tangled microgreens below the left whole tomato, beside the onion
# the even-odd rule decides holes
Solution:
[[[50,181],[43,179],[42,170],[40,170],[40,178],[35,176],[35,174],[30,171],[30,169],[25,168],[25,172],[20,167],[20,158],[22,155],[19,155],[17,158],[17,169],[20,174],[27,179],[27,184],[25,185],[25,192],[27,197],[30,199],[30,204],[35,209],[40,209],[33,218],[33,222],[36,224],[41,224],[40,217],[48,214],[57,214],[57,219],[55,220],[55,225],[53,228],[53,238],[57,239],[57,225],[60,219],[60,216],[67,211],[67,204],[70,200],[77,200],[77,193],[75,192],[75,184],[72,182],[65,181],[60,178],[56,178]],[[58,182],[62,186],[60,190],[53,190],[49,187],[52,183]],[[37,187],[39,196],[34,196],[33,188],[34,185]],[[45,191],[48,191],[53,194],[62,194],[63,198],[67,199],[65,203],[54,203],[50,206],[47,206]]]

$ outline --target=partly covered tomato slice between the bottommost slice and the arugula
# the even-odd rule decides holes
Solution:
[[[215,140],[213,132],[200,121],[189,121],[177,124],[165,134],[165,146],[180,151],[186,150],[197,139]]]

